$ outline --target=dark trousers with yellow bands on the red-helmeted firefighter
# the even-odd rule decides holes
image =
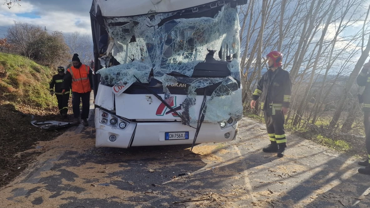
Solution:
[[[285,117],[281,110],[276,110],[275,115],[269,115],[268,110],[264,110],[267,134],[270,141],[276,141],[279,146],[286,147],[286,137],[284,131]]]

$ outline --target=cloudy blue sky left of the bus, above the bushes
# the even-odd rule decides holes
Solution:
[[[21,0],[10,9],[0,0],[0,38],[14,21],[46,27],[64,34],[78,31],[91,35],[90,8],[92,0]]]

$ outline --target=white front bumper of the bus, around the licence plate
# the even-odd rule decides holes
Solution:
[[[109,125],[101,122],[102,110],[95,109],[96,147],[119,147],[129,148],[131,146],[158,146],[174,144],[192,144],[196,129],[182,125],[181,122],[127,122],[124,129],[117,125]],[[117,123],[119,123],[118,121]],[[171,133],[185,133],[186,139],[168,138]],[[232,141],[238,133],[238,122],[225,127],[219,123],[203,122],[195,143],[219,143]],[[167,136],[166,136],[167,135]]]

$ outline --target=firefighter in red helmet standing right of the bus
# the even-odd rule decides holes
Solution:
[[[272,51],[267,55],[269,69],[259,80],[250,102],[251,108],[254,108],[256,100],[261,98],[261,109],[271,141],[271,144],[262,151],[277,152],[278,157],[284,156],[286,147],[284,115],[288,112],[292,92],[289,73],[281,68],[282,59],[283,56],[279,51]]]

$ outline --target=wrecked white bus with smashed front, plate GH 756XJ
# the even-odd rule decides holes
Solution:
[[[234,140],[245,3],[93,0],[95,146]]]

